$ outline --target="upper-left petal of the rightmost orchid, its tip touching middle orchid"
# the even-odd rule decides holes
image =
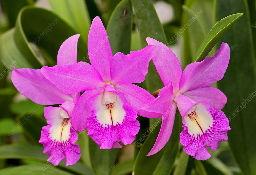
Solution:
[[[167,86],[169,81],[172,82],[174,91],[179,90],[180,77],[182,75],[182,69],[180,62],[172,50],[153,38],[146,38],[148,45],[155,45],[156,52],[152,58],[156,70],[160,75],[164,86]]]

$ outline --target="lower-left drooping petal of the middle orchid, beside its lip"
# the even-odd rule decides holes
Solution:
[[[90,115],[91,111],[89,107],[87,106],[88,99],[95,95],[100,93],[102,88],[92,89],[85,91],[81,97],[77,100],[75,107],[73,109],[72,117],[71,117],[71,124],[72,127],[78,131],[82,132],[84,129],[87,128],[87,118]]]

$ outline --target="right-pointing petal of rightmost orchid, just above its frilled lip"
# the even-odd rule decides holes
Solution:
[[[215,110],[221,110],[227,103],[226,95],[224,95],[219,89],[211,86],[187,91],[184,92],[183,95],[197,102],[206,100],[210,102],[210,106]]]

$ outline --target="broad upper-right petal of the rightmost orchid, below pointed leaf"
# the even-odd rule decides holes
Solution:
[[[229,57],[229,46],[223,42],[214,57],[189,64],[180,79],[180,93],[210,86],[221,80],[228,67]]]

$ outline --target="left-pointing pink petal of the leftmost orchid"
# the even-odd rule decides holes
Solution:
[[[47,80],[40,69],[16,69],[14,67],[12,82],[22,95],[38,104],[53,105],[72,100],[71,95],[63,94]]]

